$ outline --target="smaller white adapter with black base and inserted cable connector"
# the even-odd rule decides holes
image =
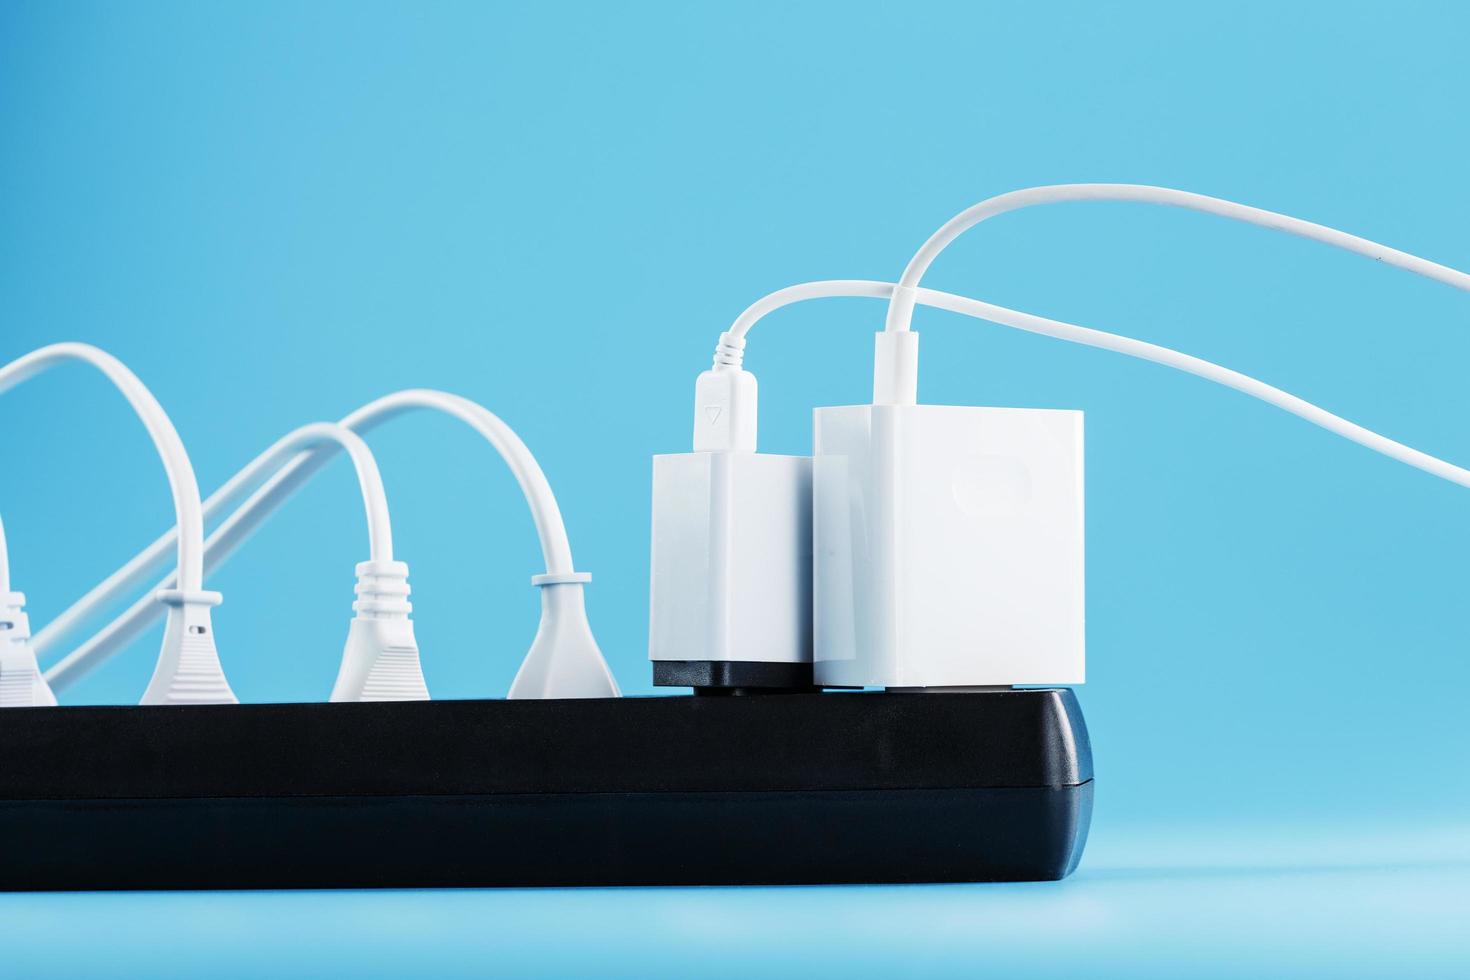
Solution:
[[[695,385],[694,453],[653,461],[654,683],[811,686],[811,460],[756,453],[756,378]]]

